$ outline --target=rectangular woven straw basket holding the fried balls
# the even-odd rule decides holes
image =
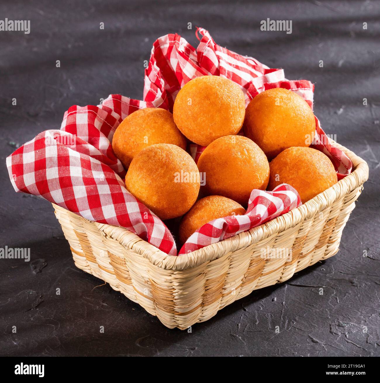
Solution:
[[[352,161],[350,175],[289,213],[188,255],[167,255],[127,229],[53,206],[77,267],[108,282],[166,327],[187,329],[338,252],[368,165],[336,146]],[[270,250],[269,257],[263,249]],[[291,257],[283,256],[284,249]]]

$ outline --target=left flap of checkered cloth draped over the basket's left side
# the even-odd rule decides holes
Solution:
[[[125,188],[110,144],[119,120],[107,107],[72,106],[61,130],[38,134],[7,158],[13,187],[90,221],[123,226],[176,255],[169,229]]]

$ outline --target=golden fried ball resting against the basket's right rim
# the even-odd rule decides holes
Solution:
[[[311,147],[290,147],[270,163],[268,190],[288,183],[302,203],[338,182],[334,165],[326,154]]]

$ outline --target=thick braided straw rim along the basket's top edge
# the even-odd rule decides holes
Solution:
[[[335,146],[347,154],[352,161],[354,170],[349,175],[307,201],[305,204],[298,208],[294,208],[280,217],[271,219],[260,226],[256,226],[248,231],[237,234],[224,241],[208,245],[189,254],[182,254],[179,256],[169,255],[144,241],[138,237],[137,234],[130,232],[128,229],[97,222],[94,222],[94,224],[104,236],[112,237],[112,239],[118,241],[123,247],[129,248],[133,252],[142,255],[151,264],[157,267],[172,271],[183,271],[197,267],[204,262],[210,262],[220,258],[227,252],[247,247],[252,243],[268,238],[275,233],[294,227],[304,219],[308,219],[318,211],[332,205],[332,203],[342,196],[362,186],[368,179],[367,162],[346,147],[333,140],[331,141]],[[53,204],[53,206],[56,209],[65,210],[57,205]]]

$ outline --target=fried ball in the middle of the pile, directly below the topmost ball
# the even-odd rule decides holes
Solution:
[[[265,190],[269,164],[264,152],[243,136],[225,136],[211,142],[198,160],[208,195],[222,195],[247,206],[253,189]]]

